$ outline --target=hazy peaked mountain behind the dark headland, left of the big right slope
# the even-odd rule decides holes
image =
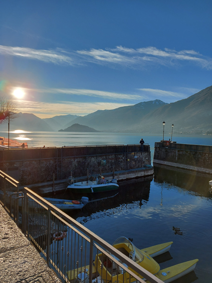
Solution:
[[[67,123],[65,127],[75,123],[87,125],[100,131],[121,132],[136,127],[145,115],[166,105],[161,100],[140,102],[135,105],[119,107],[113,110],[98,110],[86,116],[79,116]]]

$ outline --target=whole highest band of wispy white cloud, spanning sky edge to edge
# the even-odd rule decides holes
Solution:
[[[212,58],[204,56],[195,50],[180,50],[165,48],[158,49],[153,46],[142,48],[128,48],[117,46],[115,48],[90,50],[64,49],[39,50],[27,47],[12,47],[0,45],[0,54],[36,59],[54,64],[83,65],[95,63],[109,67],[124,66],[127,68],[146,68],[148,66],[173,66],[185,62],[199,65],[201,68],[212,69]]]

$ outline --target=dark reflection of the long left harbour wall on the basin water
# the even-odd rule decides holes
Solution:
[[[89,203],[81,211],[67,212],[81,224],[90,220],[104,218],[120,212],[141,208],[149,200],[150,184],[153,176],[119,182],[119,190],[113,192],[83,194]],[[68,196],[67,196],[68,194]],[[63,198],[80,199],[81,194],[70,195],[66,192]]]

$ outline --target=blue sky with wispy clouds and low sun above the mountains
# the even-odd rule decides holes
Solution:
[[[39,118],[212,85],[211,0],[0,1],[0,97]]]

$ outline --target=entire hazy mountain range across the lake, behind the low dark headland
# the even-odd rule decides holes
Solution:
[[[212,86],[174,103],[161,100],[140,102],[113,110],[98,110],[86,116],[60,115],[40,119],[33,114],[19,113],[10,121],[10,130],[58,131],[80,124],[102,132],[128,132],[160,134],[166,122],[170,133],[204,134],[212,131]],[[0,132],[8,130],[0,124]]]

